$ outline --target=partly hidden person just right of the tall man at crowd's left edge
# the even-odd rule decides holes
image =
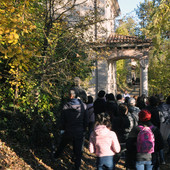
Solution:
[[[94,107],[93,107],[93,97],[92,96],[87,96],[87,97],[88,97],[88,101],[86,104],[87,104],[87,111],[88,111],[88,138],[89,138],[94,128],[95,115],[94,115]]]

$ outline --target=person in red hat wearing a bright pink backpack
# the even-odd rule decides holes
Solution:
[[[132,129],[126,142],[127,151],[130,153],[130,155],[128,155],[128,164],[126,164],[127,168],[136,167],[137,170],[159,169],[157,155],[159,151],[164,148],[164,141],[159,129],[155,127],[150,120],[151,113],[148,110],[141,110],[139,112],[139,125]],[[144,128],[149,129],[151,137],[141,138],[139,140],[139,132]],[[152,140],[148,141],[148,143],[152,145],[148,146],[148,144],[146,144],[144,148],[148,148],[148,150],[141,151],[139,143],[145,144],[146,141],[142,141],[144,139]],[[151,148],[151,150],[149,150],[149,148]]]

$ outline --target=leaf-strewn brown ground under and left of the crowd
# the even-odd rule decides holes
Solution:
[[[13,147],[15,146],[15,148]],[[88,141],[85,143],[81,170],[95,170],[95,155],[88,151]],[[166,154],[166,165],[161,165],[160,170],[170,170],[170,155]],[[116,165],[116,170],[125,170],[124,159]],[[17,143],[6,143],[0,139],[0,170],[72,170],[72,147],[67,146],[63,155],[57,161],[51,159],[48,150],[32,151]]]

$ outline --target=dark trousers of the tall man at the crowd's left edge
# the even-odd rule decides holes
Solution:
[[[77,133],[65,132],[61,137],[61,141],[57,149],[57,152],[55,154],[55,157],[58,158],[63,153],[65,146],[70,143],[72,143],[73,145],[73,153],[75,157],[75,160],[74,160],[75,169],[79,170],[81,166],[82,150],[83,150],[83,144],[84,144],[83,132],[77,132]]]

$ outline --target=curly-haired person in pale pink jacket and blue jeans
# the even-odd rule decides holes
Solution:
[[[97,170],[104,167],[113,170],[114,155],[120,152],[120,144],[115,132],[111,131],[110,118],[105,113],[98,114],[94,131],[90,135],[89,150],[97,156]]]

